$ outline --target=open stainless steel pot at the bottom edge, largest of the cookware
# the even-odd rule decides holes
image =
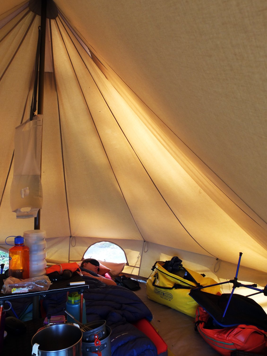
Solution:
[[[82,330],[73,324],[55,324],[32,337],[32,354],[36,356],[81,356]]]

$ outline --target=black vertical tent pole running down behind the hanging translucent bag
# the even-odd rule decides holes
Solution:
[[[44,74],[45,74],[45,48],[46,48],[46,9],[47,0],[41,0],[41,49],[39,59],[38,107],[37,114],[43,114]],[[42,157],[41,157],[42,162]],[[42,165],[42,163],[41,163]],[[40,209],[34,218],[34,229],[40,230]]]

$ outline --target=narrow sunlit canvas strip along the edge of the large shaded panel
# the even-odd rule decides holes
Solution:
[[[258,243],[266,246],[266,223],[259,218],[204,162],[197,157],[169,128],[138,98],[114,71],[96,58],[96,65],[137,113],[143,124],[152,132],[174,159],[193,178],[216,204]],[[104,63],[104,64],[103,64]]]

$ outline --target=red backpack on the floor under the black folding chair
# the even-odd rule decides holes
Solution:
[[[217,327],[217,329],[215,329]],[[237,325],[218,329],[213,319],[202,308],[195,314],[195,330],[219,354],[230,356],[235,350],[267,355],[267,337],[265,331],[253,325]]]

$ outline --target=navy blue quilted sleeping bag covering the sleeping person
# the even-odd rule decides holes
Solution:
[[[155,344],[131,323],[152,314],[142,300],[131,290],[106,284],[90,277],[83,277],[90,285],[84,290],[87,321],[106,320],[110,326],[112,356],[157,356]],[[64,315],[67,294],[47,295],[43,307],[47,315]]]

